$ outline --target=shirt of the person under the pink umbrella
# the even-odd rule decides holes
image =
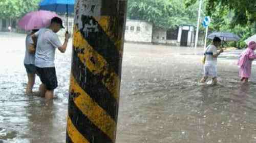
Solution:
[[[35,54],[29,53],[29,46],[30,44],[33,44],[33,40],[31,38],[31,35],[28,34],[26,37],[26,53],[24,58],[24,64],[35,64]]]

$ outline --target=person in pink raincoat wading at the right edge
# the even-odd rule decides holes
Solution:
[[[238,60],[239,66],[239,76],[242,82],[248,82],[248,79],[251,75],[251,64],[254,59],[256,59],[256,54],[254,54],[254,50],[256,49],[256,43],[251,41],[248,44],[247,49],[240,55]]]

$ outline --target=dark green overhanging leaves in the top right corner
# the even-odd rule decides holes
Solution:
[[[200,0],[186,0],[186,6],[195,4]],[[252,25],[256,21],[256,1],[255,0],[205,0],[206,14],[215,15],[216,10],[220,13],[226,10],[233,12],[231,26]]]

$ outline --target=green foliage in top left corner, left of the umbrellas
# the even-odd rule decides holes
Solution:
[[[1,0],[0,17],[17,18],[36,10],[40,0]]]

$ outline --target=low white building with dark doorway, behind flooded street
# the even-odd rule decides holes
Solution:
[[[195,27],[181,25],[175,29],[154,29],[153,24],[141,20],[126,20],[125,36],[127,42],[194,46]]]

